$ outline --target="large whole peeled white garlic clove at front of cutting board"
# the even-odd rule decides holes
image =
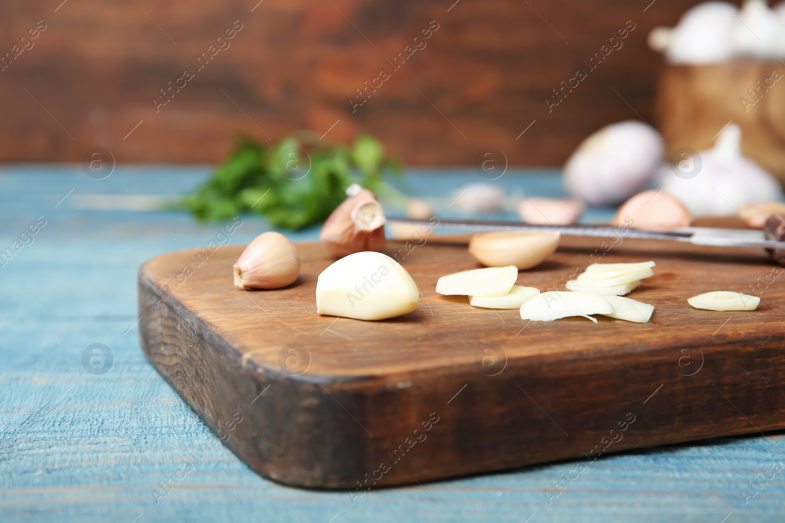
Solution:
[[[357,320],[383,320],[417,308],[411,275],[381,252],[355,252],[327,267],[316,281],[316,312]]]

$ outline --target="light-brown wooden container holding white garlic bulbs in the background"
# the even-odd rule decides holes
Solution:
[[[713,147],[714,136],[732,121],[742,129],[743,154],[785,185],[782,62],[666,64],[659,78],[655,112],[669,156],[681,147],[698,151]]]

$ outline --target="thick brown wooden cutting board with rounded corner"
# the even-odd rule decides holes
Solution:
[[[557,459],[590,467],[609,452],[785,428],[780,267],[755,250],[626,240],[599,256],[581,242],[564,238],[518,283],[562,289],[590,260],[655,260],[655,277],[629,295],[655,305],[650,323],[529,323],[517,310],[470,307],[434,289],[441,275],[478,265],[466,245],[436,242],[386,251],[406,254],[398,259],[420,287],[417,311],[385,321],[320,316],[316,278],[334,259],[305,243],[299,280],[271,291],[232,286],[243,246],[148,261],[141,342],[254,470],[352,496]],[[754,293],[761,305],[688,305],[710,290]]]

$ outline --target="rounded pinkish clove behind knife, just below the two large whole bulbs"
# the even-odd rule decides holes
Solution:
[[[636,229],[688,227],[692,216],[685,205],[665,191],[643,191],[623,203],[612,224]]]

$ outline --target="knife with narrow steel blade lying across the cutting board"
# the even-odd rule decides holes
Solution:
[[[433,219],[432,219],[433,220]],[[407,223],[434,227],[432,221],[411,218],[387,217],[388,223]],[[632,227],[608,225],[534,225],[531,223],[480,220],[439,220],[439,227],[451,227],[466,231],[557,231],[565,236],[589,236],[593,238],[634,238],[640,240],[669,240],[671,242],[711,245],[728,248],[759,247],[769,252],[785,251],[785,216],[774,215],[766,222],[765,231],[755,229],[721,229],[714,227],[679,227],[667,231],[643,231]],[[781,254],[781,253],[777,253]],[[780,259],[780,256],[778,256]]]

